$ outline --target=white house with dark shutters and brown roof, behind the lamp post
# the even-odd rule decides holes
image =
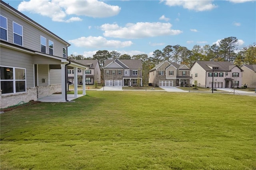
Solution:
[[[243,70],[228,61],[196,61],[191,67],[190,75],[198,87],[232,88],[242,86]]]

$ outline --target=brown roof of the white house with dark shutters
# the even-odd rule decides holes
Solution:
[[[212,71],[209,66],[219,67],[218,71],[231,71],[232,68],[236,66],[238,67],[238,65],[233,65],[228,61],[195,61],[195,63],[198,63],[205,71]],[[192,65],[192,67],[194,66],[194,64]],[[238,68],[242,70],[240,67]]]

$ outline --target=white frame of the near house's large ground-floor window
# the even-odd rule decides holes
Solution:
[[[2,95],[8,95],[8,94],[17,94],[17,93],[26,93],[27,91],[27,84],[26,84],[26,68],[21,68],[21,67],[9,67],[6,65],[0,65],[0,67],[8,67],[8,68],[12,68],[13,73],[12,79],[0,79],[0,88],[1,88],[1,82],[3,81],[12,81],[12,85],[13,85],[13,93],[2,93]],[[25,73],[25,79],[16,79],[16,69],[24,69],[24,73]],[[20,91],[20,92],[16,92],[16,81],[24,81],[25,82],[25,91]],[[1,88],[2,89],[2,88]]]

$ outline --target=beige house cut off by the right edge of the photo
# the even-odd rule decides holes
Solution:
[[[248,88],[256,88],[256,65],[243,64],[240,66],[243,72],[242,81]]]

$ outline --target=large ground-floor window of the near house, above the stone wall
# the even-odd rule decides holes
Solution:
[[[26,92],[26,69],[0,67],[2,94]]]

